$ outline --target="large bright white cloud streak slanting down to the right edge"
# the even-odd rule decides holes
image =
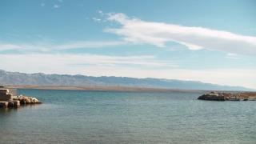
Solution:
[[[166,42],[178,42],[190,50],[204,48],[233,54],[256,54],[256,37],[252,36],[203,27],[146,22],[121,13],[107,14],[107,20],[118,22],[121,26],[105,31],[122,36],[126,42],[148,43],[159,47],[166,46]]]

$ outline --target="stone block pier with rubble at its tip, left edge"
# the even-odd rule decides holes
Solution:
[[[16,89],[0,86],[0,108],[17,108],[21,105],[41,104],[37,98],[18,95]]]

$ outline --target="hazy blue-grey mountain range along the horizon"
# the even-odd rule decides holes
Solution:
[[[37,86],[131,86],[180,90],[251,90],[242,86],[158,78],[90,77],[68,74],[25,74],[0,70],[0,85]]]

